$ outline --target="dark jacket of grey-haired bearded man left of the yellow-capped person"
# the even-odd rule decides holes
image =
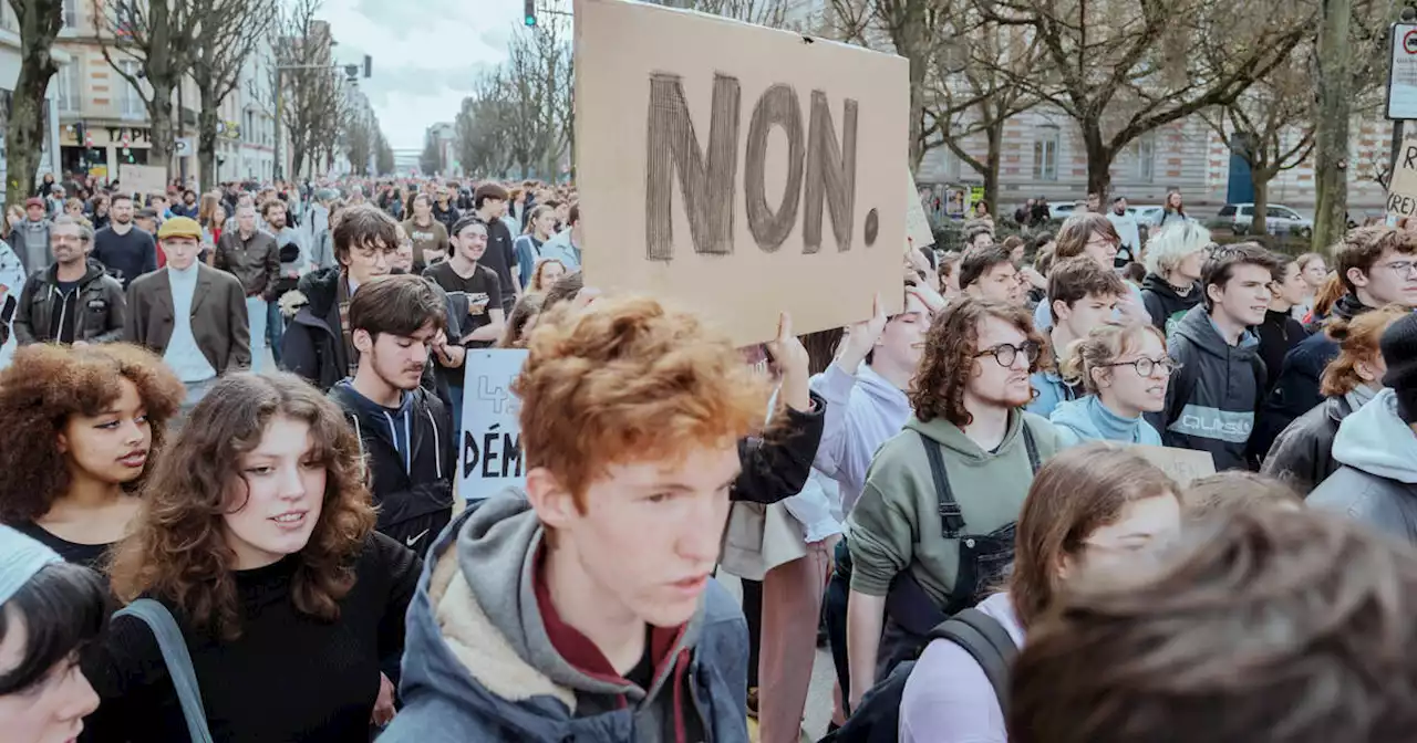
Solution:
[[[50,327],[54,321],[54,303],[64,301],[60,296],[55,276],[60,265],[37,270],[24,282],[20,303],[14,314],[14,340],[20,345],[50,342],[60,338],[60,331]],[[123,340],[123,317],[128,301],[123,299],[123,284],[103,272],[103,266],[88,262],[88,273],[79,279],[74,313],[65,314],[65,323],[74,323],[74,340],[84,342],[112,342]]]

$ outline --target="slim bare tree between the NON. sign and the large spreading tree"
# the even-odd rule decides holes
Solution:
[[[1009,119],[1039,105],[1039,96],[1016,81],[1041,62],[1041,47],[1017,27],[1002,27],[956,0],[935,30],[924,150],[944,144],[983,178],[989,214],[998,214],[1003,127]],[[1007,74],[1000,74],[1005,69]],[[983,159],[965,140],[983,134]]]

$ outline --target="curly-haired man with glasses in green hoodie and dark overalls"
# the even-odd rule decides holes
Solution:
[[[924,345],[914,417],[876,453],[849,519],[852,706],[1002,577],[1033,473],[1058,446],[1022,409],[1029,375],[1050,362],[1027,310],[966,299],[935,316]]]

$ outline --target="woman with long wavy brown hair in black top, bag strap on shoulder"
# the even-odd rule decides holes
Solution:
[[[191,420],[143,490],[113,592],[173,614],[215,740],[367,742],[393,718],[419,565],[374,532],[354,430],[289,374],[224,376]],[[140,620],[116,617],[86,671],[99,740],[187,739]]]

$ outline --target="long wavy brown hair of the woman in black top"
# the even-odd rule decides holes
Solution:
[[[227,546],[225,514],[241,457],[261,444],[266,426],[288,417],[310,426],[313,456],[324,466],[324,500],[310,541],[298,553],[290,583],[296,610],[334,621],[354,586],[354,559],[374,529],[363,459],[340,409],[292,374],[222,376],[191,410],[143,488],[133,535],[113,555],[113,593],[123,601],[153,594],[173,601],[194,627],[224,640],[239,637],[239,607]]]

